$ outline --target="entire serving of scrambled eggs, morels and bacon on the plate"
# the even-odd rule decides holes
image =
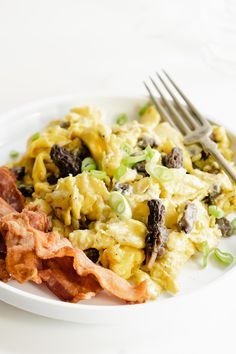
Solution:
[[[235,185],[153,106],[140,116],[111,127],[100,110],[74,108],[0,168],[1,280],[45,283],[70,302],[104,289],[139,303],[176,293],[196,253],[204,266],[211,251],[232,263],[216,247],[235,229],[225,217]],[[225,129],[214,126],[212,139],[233,164]]]

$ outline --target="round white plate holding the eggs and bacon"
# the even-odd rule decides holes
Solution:
[[[107,122],[114,121],[115,117],[125,112],[128,116],[138,118],[138,108],[146,102],[145,97],[98,97],[98,96],[63,96],[37,103],[25,105],[12,110],[0,117],[0,163],[9,159],[9,151],[24,152],[26,140],[32,133],[39,131],[50,120],[63,117],[71,107],[81,105],[95,105],[107,113]],[[233,139],[236,145],[236,138]],[[234,147],[235,149],[235,147]],[[236,149],[235,149],[236,151]],[[222,239],[221,248],[236,255],[236,239],[231,237]],[[210,261],[206,269],[201,269],[200,259],[190,260],[180,273],[180,293],[172,297],[162,295],[156,301],[141,305],[122,305],[119,300],[109,297],[105,293],[78,304],[65,303],[58,300],[44,285],[27,283],[20,285],[15,281],[7,284],[0,283],[0,299],[26,311],[43,316],[75,321],[82,323],[118,323],[124,320],[147,321],[151,315],[159,315],[166,308],[179,309],[181,304],[187,305],[192,299],[196,301],[204,294],[215,294],[218,284],[226,279],[225,273],[235,272],[235,267],[225,268]],[[230,270],[230,272],[229,272]],[[228,274],[228,278],[229,275]],[[224,277],[222,277],[224,275]],[[217,282],[215,281],[217,280]],[[210,284],[211,286],[207,286]],[[201,289],[201,292],[196,291]],[[187,295],[187,296],[185,296]],[[209,295],[209,294],[208,294]],[[164,312],[163,312],[164,311]]]

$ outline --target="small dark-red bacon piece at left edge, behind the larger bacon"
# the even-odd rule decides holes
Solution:
[[[0,197],[15,210],[24,208],[25,198],[16,186],[16,178],[7,167],[0,167]]]

